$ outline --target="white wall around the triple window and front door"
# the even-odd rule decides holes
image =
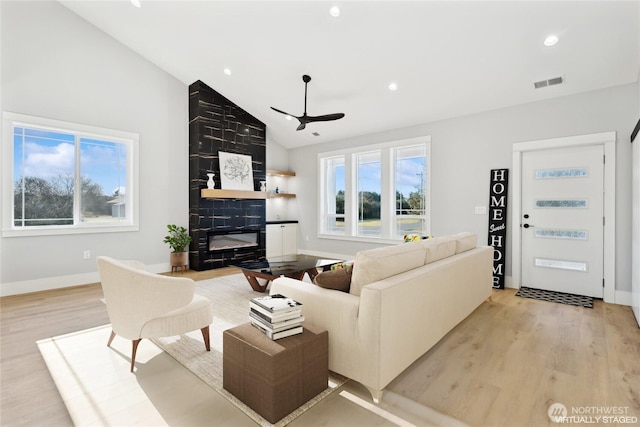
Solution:
[[[472,231],[478,233],[480,243],[484,243],[488,218],[475,215],[474,208],[488,205],[489,171],[496,168],[512,170],[514,142],[614,130],[618,136],[616,289],[630,292],[631,144],[628,141],[639,115],[638,85],[631,84],[291,150],[289,162],[298,175],[298,185],[305,188],[304,192],[298,191],[297,197],[301,218],[298,245],[305,252],[349,255],[374,246],[317,238],[316,177],[320,152],[430,135],[432,234]],[[511,194],[512,188],[509,189],[509,202]],[[512,218],[508,218],[509,236],[513,232],[511,224]],[[506,253],[510,251],[507,247]],[[510,276],[511,260],[507,258],[506,264],[506,273]]]

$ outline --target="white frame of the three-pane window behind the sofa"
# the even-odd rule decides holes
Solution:
[[[426,215],[426,234],[430,234],[431,230],[431,137],[421,136],[417,138],[409,138],[398,141],[391,141],[382,144],[367,145],[354,147],[344,150],[336,150],[318,154],[318,238],[335,239],[361,242],[377,242],[396,244],[402,240],[401,236],[395,236],[395,158],[394,150],[402,147],[421,145],[425,146],[426,156],[426,185],[425,191],[425,215]],[[380,220],[381,235],[380,237],[364,237],[358,236],[358,218],[357,218],[357,155],[369,153],[372,151],[381,152],[382,163],[382,194],[380,195]],[[327,232],[327,217],[331,216],[327,213],[326,200],[326,170],[325,160],[330,158],[344,156],[345,159],[345,227],[344,234],[333,234]]]

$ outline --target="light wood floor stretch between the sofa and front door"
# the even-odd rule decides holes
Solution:
[[[542,426],[553,403],[640,419],[640,329],[630,307],[593,309],[494,290],[388,387],[477,426]]]

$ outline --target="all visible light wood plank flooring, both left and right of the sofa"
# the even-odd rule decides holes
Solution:
[[[640,330],[629,307],[596,301],[591,310],[514,294],[494,291],[389,389],[477,426],[550,425],[555,402],[628,407],[640,417]],[[101,297],[91,284],[0,298],[0,425],[72,425],[35,342],[108,323]],[[322,417],[305,419],[320,425]]]

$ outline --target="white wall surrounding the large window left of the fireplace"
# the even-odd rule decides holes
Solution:
[[[187,86],[57,2],[0,10],[3,111],[140,135],[140,231],[2,238],[0,294],[86,283],[102,254],[168,266],[166,224],[188,224]]]

